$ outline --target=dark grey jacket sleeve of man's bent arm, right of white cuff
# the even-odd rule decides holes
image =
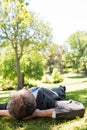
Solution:
[[[84,116],[85,107],[82,103],[74,100],[57,101],[55,111],[58,119],[75,119]]]

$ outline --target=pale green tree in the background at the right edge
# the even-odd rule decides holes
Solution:
[[[70,35],[67,42],[71,47],[69,60],[73,63],[73,67],[78,70],[80,67],[80,59],[87,54],[87,32],[77,31]]]

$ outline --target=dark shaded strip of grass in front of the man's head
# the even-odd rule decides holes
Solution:
[[[52,127],[64,122],[64,120],[59,121],[51,118],[36,118],[26,121],[1,118],[0,130],[52,130]]]

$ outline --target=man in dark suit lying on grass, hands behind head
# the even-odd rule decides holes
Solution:
[[[0,104],[0,116],[13,119],[31,119],[50,117],[57,119],[75,119],[83,117],[83,104],[74,100],[65,100],[65,87],[46,89],[25,87],[14,92],[7,103]]]

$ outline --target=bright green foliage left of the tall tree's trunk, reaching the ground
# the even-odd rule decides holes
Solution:
[[[1,82],[0,87],[3,90],[12,90],[17,84],[15,60],[12,50],[9,52],[9,47],[4,48],[0,55],[0,67],[1,67]]]

